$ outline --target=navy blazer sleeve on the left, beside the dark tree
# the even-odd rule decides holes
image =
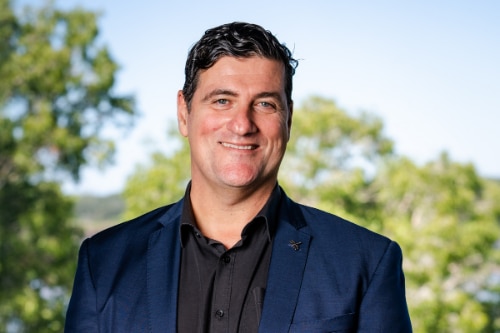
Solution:
[[[92,281],[88,255],[89,240],[80,247],[73,292],[66,312],[64,332],[98,332],[96,290]]]

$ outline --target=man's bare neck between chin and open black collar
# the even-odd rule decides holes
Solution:
[[[243,228],[264,207],[275,183],[257,190],[231,188],[218,191],[196,185],[192,182],[190,198],[198,228],[205,237],[231,248],[241,239]]]

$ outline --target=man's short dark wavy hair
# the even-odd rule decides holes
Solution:
[[[233,22],[207,30],[189,51],[184,70],[186,80],[182,88],[188,109],[191,108],[200,70],[212,67],[224,56],[261,56],[282,62],[285,65],[285,94],[288,103],[291,103],[292,77],[298,61],[270,31],[256,24]]]

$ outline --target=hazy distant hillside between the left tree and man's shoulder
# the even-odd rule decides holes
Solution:
[[[75,220],[87,236],[122,222],[124,211],[125,201],[119,194],[75,198]]]

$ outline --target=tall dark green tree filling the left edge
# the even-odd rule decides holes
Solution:
[[[133,114],[96,20],[0,0],[0,331],[62,330],[81,232],[60,182],[108,161],[101,129]]]

